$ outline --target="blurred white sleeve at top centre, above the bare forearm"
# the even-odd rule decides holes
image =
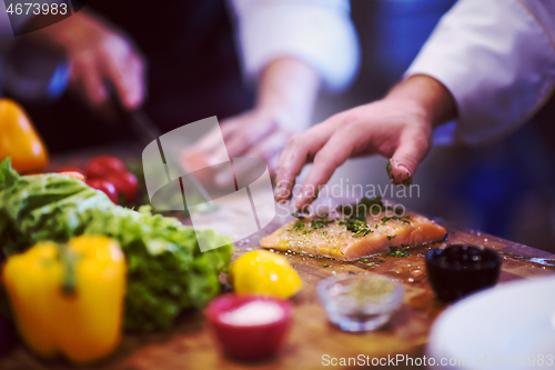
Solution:
[[[347,0],[231,0],[246,77],[270,61],[296,57],[312,66],[324,87],[349,86],[359,66],[359,42]]]

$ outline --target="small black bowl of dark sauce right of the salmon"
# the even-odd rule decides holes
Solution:
[[[490,248],[448,246],[431,249],[426,271],[435,296],[447,303],[497,283],[502,259]]]

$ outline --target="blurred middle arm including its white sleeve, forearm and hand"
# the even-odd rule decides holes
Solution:
[[[353,79],[359,48],[346,0],[230,0],[248,79],[258,83],[252,110],[221,124],[189,153],[264,160],[273,171],[286,140],[311,123],[321,86],[339,91]],[[226,151],[226,153],[225,153]],[[238,169],[235,173],[249,171]],[[222,173],[221,184],[230,179]],[[216,178],[216,182],[219,178]]]

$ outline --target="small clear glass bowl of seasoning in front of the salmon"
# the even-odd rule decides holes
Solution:
[[[339,274],[317,284],[330,321],[345,331],[375,330],[384,326],[401,306],[403,292],[400,282],[380,274]]]

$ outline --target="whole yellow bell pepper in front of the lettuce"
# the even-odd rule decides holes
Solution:
[[[8,258],[2,281],[28,347],[83,363],[109,354],[121,339],[125,274],[114,240],[82,236]]]

